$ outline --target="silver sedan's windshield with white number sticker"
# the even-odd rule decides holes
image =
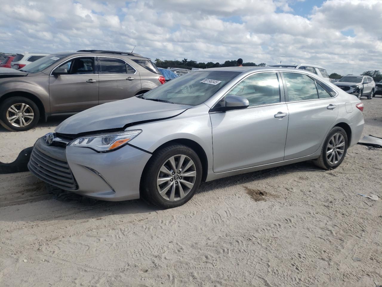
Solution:
[[[196,106],[204,103],[239,74],[227,71],[187,73],[148,91],[143,98]]]

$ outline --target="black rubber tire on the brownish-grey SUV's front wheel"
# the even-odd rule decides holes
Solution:
[[[16,105],[15,107],[19,107],[17,104],[26,104],[29,107],[27,108],[26,114],[30,115],[33,113],[33,119],[27,118],[26,116],[23,118],[26,124],[25,126],[24,123],[22,122],[21,118],[23,117],[23,114],[20,113],[20,117],[17,117],[15,120],[15,124],[18,126],[13,125],[10,121],[7,119],[7,112],[8,109],[11,108],[13,105]],[[25,113],[24,113],[25,114]],[[9,116],[16,116],[16,113],[13,113],[11,111],[8,112]],[[39,121],[40,118],[40,111],[37,105],[32,101],[31,99],[21,97],[21,96],[16,96],[12,97],[9,99],[6,99],[3,101],[3,103],[0,106],[0,124],[5,127],[6,129],[12,131],[12,132],[21,132],[24,130],[29,130],[32,129],[37,125],[37,122]]]

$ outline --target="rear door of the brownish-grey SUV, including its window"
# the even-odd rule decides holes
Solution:
[[[98,57],[99,104],[135,96],[141,90],[139,73],[124,60]]]

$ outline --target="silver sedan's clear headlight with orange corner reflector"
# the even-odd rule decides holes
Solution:
[[[108,134],[90,135],[79,137],[70,143],[72,147],[87,147],[97,152],[110,152],[122,147],[139,135],[142,130],[127,130],[124,132],[111,132]]]

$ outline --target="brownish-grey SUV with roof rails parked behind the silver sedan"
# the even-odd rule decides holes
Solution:
[[[28,130],[40,117],[75,114],[163,83],[157,67],[139,54],[80,50],[48,55],[21,70],[0,71],[0,124]]]

